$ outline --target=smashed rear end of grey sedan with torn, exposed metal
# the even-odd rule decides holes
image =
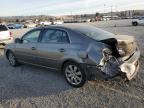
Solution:
[[[133,37],[112,38],[101,42],[108,47],[101,50],[102,55],[96,55],[97,57],[90,55],[89,58],[95,63],[98,63],[96,60],[100,60],[97,67],[109,78],[124,74],[126,79],[131,80],[139,68],[138,57],[140,56]]]

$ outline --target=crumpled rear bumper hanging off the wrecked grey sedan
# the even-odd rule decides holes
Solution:
[[[109,80],[109,79],[126,79],[131,80],[133,79],[139,70],[139,57],[140,51],[137,49],[127,60],[123,61],[119,66],[119,74],[110,77],[104,72],[100,70],[98,66],[95,65],[87,65],[87,71],[89,73],[90,80]]]

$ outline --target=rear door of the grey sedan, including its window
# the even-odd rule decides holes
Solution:
[[[38,63],[50,68],[59,68],[62,58],[68,52],[69,45],[66,31],[45,29],[41,42],[37,46]]]

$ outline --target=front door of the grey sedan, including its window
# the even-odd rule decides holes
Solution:
[[[40,34],[41,29],[32,30],[22,37],[21,44],[16,44],[15,54],[19,60],[27,63],[36,64],[36,49]]]

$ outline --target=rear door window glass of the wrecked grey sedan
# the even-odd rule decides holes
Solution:
[[[69,43],[68,35],[62,30],[47,30],[42,38],[42,43]]]

